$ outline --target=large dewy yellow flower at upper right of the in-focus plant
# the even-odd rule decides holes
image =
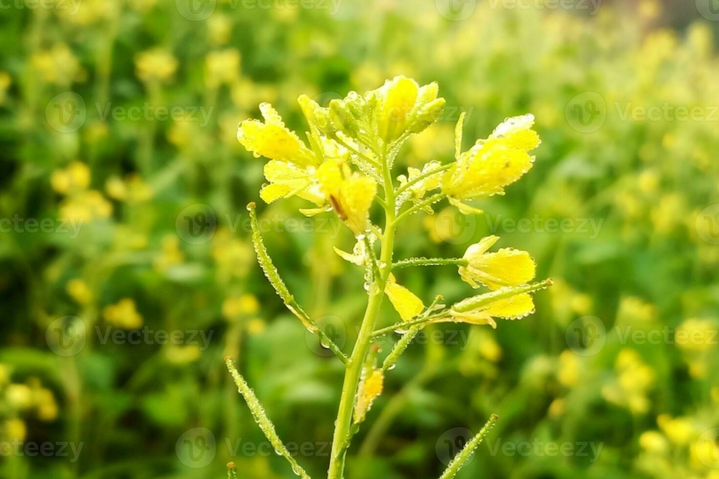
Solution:
[[[442,190],[450,200],[503,195],[504,187],[531,169],[534,157],[528,152],[539,146],[539,135],[531,128],[534,116],[508,118],[489,138],[479,140],[459,154],[457,164],[444,174]]]

